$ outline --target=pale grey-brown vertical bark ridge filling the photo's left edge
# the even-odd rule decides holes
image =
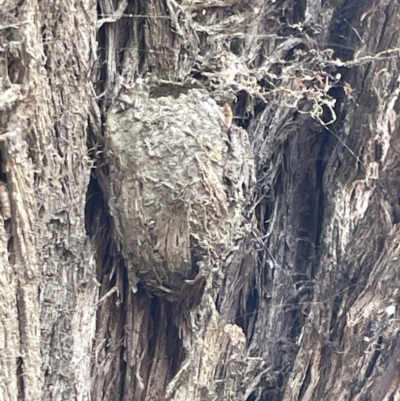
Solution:
[[[85,230],[95,7],[0,4],[3,400],[89,399],[98,293]]]

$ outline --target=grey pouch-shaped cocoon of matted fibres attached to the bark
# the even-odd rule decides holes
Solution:
[[[191,89],[131,96],[107,116],[109,207],[129,271],[152,292],[178,295],[221,261],[238,235],[253,174],[247,134],[228,135],[217,104]]]

